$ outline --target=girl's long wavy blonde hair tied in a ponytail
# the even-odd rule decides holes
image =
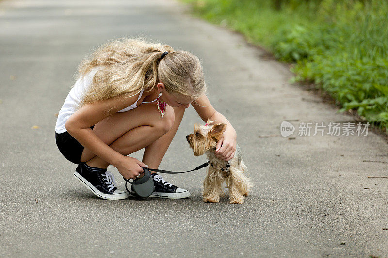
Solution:
[[[160,60],[163,52],[168,54]],[[146,92],[162,82],[168,93],[190,100],[205,94],[207,87],[201,63],[187,51],[174,51],[169,45],[152,43],[142,37],[121,38],[97,47],[90,59],[81,61],[81,78],[98,69],[81,98],[80,107],[99,100]]]

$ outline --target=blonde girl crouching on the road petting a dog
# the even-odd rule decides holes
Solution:
[[[125,199],[106,168],[113,165],[126,179],[140,177],[142,167],[157,169],[190,104],[203,121],[227,124],[216,156],[225,161],[234,156],[236,131],[205,93],[201,63],[190,52],[142,38],[109,42],[81,61],[78,80],[58,115],[56,144],[78,164],[76,179],[96,196]],[[127,156],[142,148],[142,162]],[[152,173],[151,197],[190,196]]]

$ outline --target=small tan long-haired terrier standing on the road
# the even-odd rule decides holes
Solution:
[[[222,184],[226,181],[229,188],[230,203],[241,204],[244,196],[248,196],[252,182],[246,177],[247,167],[242,162],[240,147],[237,145],[234,157],[230,160],[230,167],[226,170],[227,161],[215,156],[215,148],[218,140],[226,129],[225,123],[212,124],[208,120],[205,125],[195,123],[194,133],[186,136],[194,156],[201,156],[206,153],[210,164],[207,167],[205,180],[203,181],[203,201],[219,202],[220,196],[224,196]]]

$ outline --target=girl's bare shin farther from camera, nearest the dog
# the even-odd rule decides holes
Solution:
[[[174,107],[173,109],[175,113],[175,121],[170,131],[146,146],[146,149],[144,150],[142,162],[148,165],[150,168],[158,169],[164,154],[167,152],[168,147],[170,146],[175,134],[177,133],[178,127],[186,110],[185,107]],[[155,173],[152,172],[152,170],[150,171],[151,173]]]

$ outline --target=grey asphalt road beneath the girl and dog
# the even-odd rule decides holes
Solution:
[[[388,256],[388,181],[367,178],[387,176],[387,144],[371,132],[274,136],[285,120],[354,120],[291,85],[288,68],[241,35],[171,0],[3,0],[0,28],[1,257]],[[93,48],[136,35],[201,59],[208,97],[236,129],[255,183],[243,205],[203,203],[204,169],[163,175],[190,190],[181,200],[101,200],[73,178],[55,113]],[[160,168],[206,161],[185,139],[194,122],[190,107]]]

